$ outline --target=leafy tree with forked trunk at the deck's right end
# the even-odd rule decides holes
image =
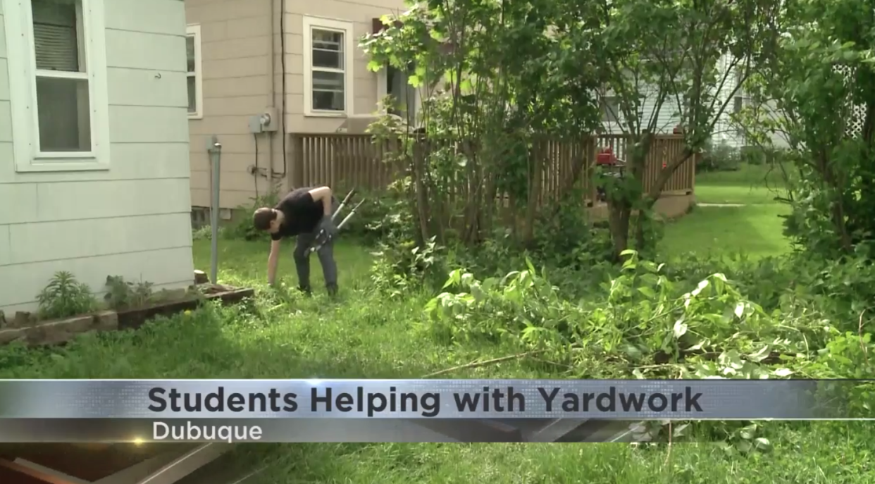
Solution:
[[[589,13],[592,18],[580,16],[577,23],[590,26],[583,35],[598,53],[599,96],[618,100],[617,128],[631,146],[630,176],[608,187],[613,241],[618,253],[627,249],[637,210],[636,245],[646,249],[649,211],[672,174],[702,151],[742,83],[774,56],[779,2],[604,0]],[[675,124],[686,147],[645,193],[653,138]]]

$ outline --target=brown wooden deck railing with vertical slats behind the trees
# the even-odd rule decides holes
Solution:
[[[594,200],[589,170],[593,168],[598,150],[611,147],[617,158],[628,156],[628,139],[624,135],[598,135],[583,137],[577,142],[543,141],[533,153],[540,153],[542,179],[539,204],[557,200],[570,188],[582,188],[588,200]],[[291,135],[291,186],[328,185],[358,187],[366,190],[381,190],[398,179],[404,167],[387,162],[398,148],[395,142],[374,143],[367,134],[346,133],[295,133]],[[658,178],[664,164],[681,155],[683,137],[664,135],[655,137],[647,158],[644,188],[648,190]],[[583,157],[583,158],[581,158]],[[575,165],[581,159],[583,172],[577,177],[576,186],[568,186],[574,179]],[[694,186],[695,161],[690,158],[672,175],[663,193],[691,192]],[[446,180],[444,180],[446,181]],[[466,190],[465,180],[455,180],[458,185],[451,192]],[[453,184],[448,184],[452,186]],[[450,193],[452,195],[452,193]]]

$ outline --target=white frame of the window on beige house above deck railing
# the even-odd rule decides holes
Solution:
[[[325,111],[313,109],[313,29],[322,31],[334,31],[343,33],[343,77],[344,77],[344,102],[342,111]],[[304,16],[304,116],[323,117],[346,117],[354,116],[353,109],[353,23],[331,18],[318,18]],[[317,69],[319,70],[319,69]],[[328,70],[328,69],[325,69]]]

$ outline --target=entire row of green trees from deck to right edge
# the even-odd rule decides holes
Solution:
[[[732,117],[770,157],[776,137],[788,141],[788,234],[847,252],[875,233],[873,11],[862,0],[410,4],[362,46],[374,70],[409,69],[422,93],[421,129],[381,123],[375,132],[403,146],[416,238],[445,242],[458,229],[471,244],[504,229],[530,243],[549,219],[535,203],[539,140],[620,130],[627,176],[598,182],[619,256],[648,249],[644,232],[662,189]],[[735,112],[742,93],[753,103]],[[603,109],[616,109],[615,126],[603,123]],[[851,132],[855,119],[860,129]],[[675,124],[685,149],[645,188],[653,139]],[[577,156],[569,187],[592,172],[590,161]],[[509,217],[498,215],[503,200]]]

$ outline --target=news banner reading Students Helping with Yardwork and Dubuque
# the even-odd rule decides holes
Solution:
[[[846,418],[846,397],[872,384],[2,380],[0,441],[608,441],[642,420]]]

